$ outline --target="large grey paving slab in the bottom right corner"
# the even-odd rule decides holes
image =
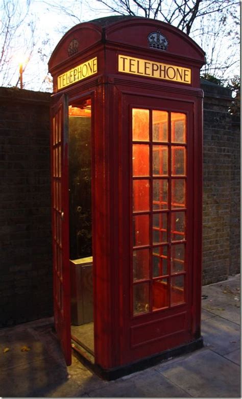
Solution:
[[[163,365],[159,372],[192,397],[240,397],[239,366],[209,350]]]

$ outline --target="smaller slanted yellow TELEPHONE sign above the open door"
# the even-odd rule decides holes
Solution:
[[[98,72],[98,59],[95,57],[59,75],[57,78],[57,89],[63,89],[66,86],[88,78],[96,72]]]

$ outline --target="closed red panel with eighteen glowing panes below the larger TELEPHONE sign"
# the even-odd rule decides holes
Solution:
[[[122,356],[130,362],[200,336],[200,312],[191,311],[199,273],[192,260],[195,119],[189,102],[140,95],[124,96],[123,119],[129,121],[123,153],[130,158],[123,246],[132,266],[123,275],[130,297]]]

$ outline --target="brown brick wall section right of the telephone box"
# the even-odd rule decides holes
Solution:
[[[238,273],[240,134],[229,112],[231,92],[202,81],[204,90],[203,284]]]

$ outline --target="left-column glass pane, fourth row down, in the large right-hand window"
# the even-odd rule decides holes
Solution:
[[[139,215],[133,217],[134,246],[149,245],[149,226],[149,215]]]

